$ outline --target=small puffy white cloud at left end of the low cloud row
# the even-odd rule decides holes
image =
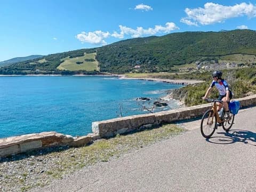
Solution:
[[[94,32],[89,32],[85,33],[84,31],[81,34],[77,34],[76,38],[81,41],[82,43],[92,43],[92,44],[101,44],[101,45],[106,45],[106,39],[107,37],[110,36],[110,33],[103,32],[101,30],[97,30]]]

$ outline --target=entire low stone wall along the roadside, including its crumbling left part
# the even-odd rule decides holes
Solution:
[[[236,100],[241,103],[241,107],[256,105],[256,95]],[[160,123],[171,123],[182,119],[202,116],[210,107],[211,103],[207,103],[204,105],[162,111],[154,114],[134,115],[109,119],[107,121],[93,122],[93,133],[78,138],[73,138],[70,135],[63,135],[57,132],[42,132],[3,138],[0,139],[0,157],[51,146],[85,146],[95,139],[113,137],[118,133],[127,133],[158,125]]]

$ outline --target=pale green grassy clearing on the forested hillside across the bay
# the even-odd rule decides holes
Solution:
[[[93,70],[99,70],[99,62],[95,60],[95,56],[97,53],[84,53],[84,56],[82,57],[76,57],[76,58],[63,58],[64,62],[62,62],[57,68],[60,70],[70,70],[70,71],[76,71],[76,70],[86,70],[86,71],[93,71]],[[94,61],[85,61],[85,60],[94,60]],[[79,64],[77,64],[79,63]]]

